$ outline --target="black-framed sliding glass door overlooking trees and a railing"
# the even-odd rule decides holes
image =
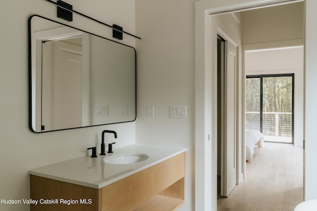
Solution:
[[[246,79],[246,129],[264,141],[293,144],[294,74],[255,75]]]

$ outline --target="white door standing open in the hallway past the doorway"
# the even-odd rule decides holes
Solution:
[[[227,197],[237,178],[236,160],[236,70],[237,50],[224,42],[223,141],[221,141],[220,195]]]

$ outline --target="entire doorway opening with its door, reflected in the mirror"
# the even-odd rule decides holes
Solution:
[[[82,47],[42,44],[42,131],[82,126]]]

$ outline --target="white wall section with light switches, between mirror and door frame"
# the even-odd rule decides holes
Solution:
[[[186,197],[194,210],[195,0],[136,0],[137,143],[186,147]],[[154,117],[147,106],[154,105]],[[169,118],[187,106],[187,118]]]

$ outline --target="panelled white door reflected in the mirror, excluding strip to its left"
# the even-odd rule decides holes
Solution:
[[[82,55],[63,48],[63,45],[62,42],[55,43],[55,130],[82,126]]]

